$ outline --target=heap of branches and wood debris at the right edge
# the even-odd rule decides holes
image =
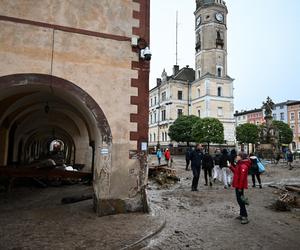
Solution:
[[[291,211],[293,208],[300,208],[300,185],[269,186],[280,190],[279,198],[270,206],[272,209]]]

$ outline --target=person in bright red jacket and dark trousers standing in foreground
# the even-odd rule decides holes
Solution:
[[[248,188],[248,171],[251,166],[251,161],[244,152],[238,153],[236,160],[237,164],[230,166],[233,172],[232,186],[235,188],[236,199],[240,206],[240,216],[238,219],[241,220],[242,224],[247,224],[249,220],[245,204],[244,189]]]

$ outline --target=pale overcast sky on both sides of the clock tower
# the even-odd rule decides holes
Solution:
[[[227,0],[228,75],[235,79],[235,110],[300,100],[300,1]],[[175,64],[178,10],[178,64],[195,68],[195,0],[151,0],[150,88],[163,69]]]

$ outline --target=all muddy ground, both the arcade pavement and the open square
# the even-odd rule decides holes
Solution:
[[[63,197],[92,191],[81,184],[0,190],[0,249],[123,249],[156,232],[164,221],[160,232],[130,249],[300,249],[300,211],[267,208],[279,195],[268,184],[300,184],[299,162],[293,170],[285,164],[268,166],[263,189],[247,190],[247,225],[234,219],[239,209],[233,189],[225,190],[221,183],[204,186],[201,172],[199,191],[191,192],[192,173],[184,164],[183,157],[175,157],[181,181],[174,185],[161,187],[149,180],[152,214],[99,218],[91,200],[62,205]]]

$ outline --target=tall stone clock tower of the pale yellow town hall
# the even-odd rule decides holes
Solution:
[[[227,74],[227,7],[223,0],[196,0],[194,115],[218,118],[225,141],[234,143],[233,79]]]

